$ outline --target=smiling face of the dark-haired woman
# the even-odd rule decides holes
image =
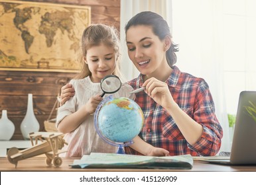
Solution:
[[[133,64],[143,75],[153,77],[164,67],[164,41],[153,33],[151,26],[131,26],[126,32],[128,55]]]

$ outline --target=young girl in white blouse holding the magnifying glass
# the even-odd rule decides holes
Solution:
[[[119,73],[119,40],[114,28],[103,24],[88,26],[82,35],[83,68],[78,79],[72,79],[70,84],[76,93],[70,100],[58,109],[56,126],[66,133],[68,143],[66,157],[81,157],[91,152],[115,153],[116,147],[103,141],[94,128],[92,115],[99,102],[103,100],[100,94],[100,81],[106,75]],[[133,88],[127,83],[122,84],[114,97],[129,97]],[[134,98],[134,97],[130,97]],[[140,141],[141,138],[135,138]],[[146,155],[168,155],[168,151],[145,143],[137,150]],[[136,144],[135,144],[136,145]]]

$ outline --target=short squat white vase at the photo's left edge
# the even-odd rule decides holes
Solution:
[[[0,119],[0,140],[10,140],[13,137],[15,126],[7,117],[7,110],[2,110]]]

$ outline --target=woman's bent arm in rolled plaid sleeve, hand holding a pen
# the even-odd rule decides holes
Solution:
[[[223,132],[216,118],[214,102],[205,81],[198,83],[195,92],[198,102],[194,102],[193,118],[174,102],[166,83],[151,78],[145,81],[143,86],[146,87],[145,92],[172,116],[176,126],[190,144],[188,146],[190,149],[200,155],[218,153]]]

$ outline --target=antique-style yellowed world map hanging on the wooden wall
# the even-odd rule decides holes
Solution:
[[[90,7],[0,0],[0,70],[78,71],[89,24]]]

